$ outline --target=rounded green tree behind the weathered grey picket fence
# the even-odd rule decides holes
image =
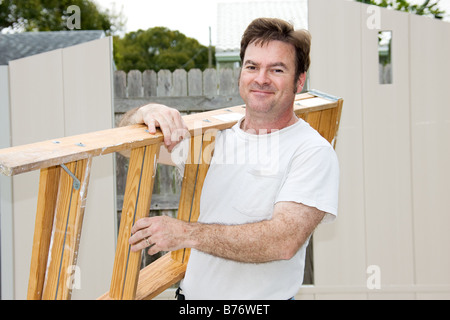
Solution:
[[[114,61],[120,70],[159,71],[208,67],[208,48],[179,31],[155,27],[114,38]]]

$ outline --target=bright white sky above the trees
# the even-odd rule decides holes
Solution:
[[[238,0],[94,0],[103,8],[123,12],[127,19],[125,32],[153,27],[167,27],[178,30],[186,36],[209,45],[211,27],[212,45],[216,44],[216,20],[218,2]],[[258,0],[252,0],[258,1]],[[333,0],[330,0],[333,1]],[[422,3],[423,0],[409,0]],[[450,14],[450,0],[441,0],[440,7]],[[446,18],[450,21],[450,15]]]

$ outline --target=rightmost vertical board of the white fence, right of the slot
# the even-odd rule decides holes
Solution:
[[[418,284],[450,284],[450,23],[410,18],[413,232]]]

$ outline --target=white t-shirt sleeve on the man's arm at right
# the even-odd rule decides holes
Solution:
[[[338,211],[338,190],[336,152],[331,146],[320,146],[292,159],[276,202],[293,201],[315,207],[326,212],[322,222],[332,222]]]

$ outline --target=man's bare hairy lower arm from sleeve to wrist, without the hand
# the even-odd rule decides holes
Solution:
[[[272,219],[255,223],[191,224],[190,247],[240,262],[290,259],[307,241],[324,213],[305,206],[293,213],[292,205],[287,203],[279,203],[276,208]]]

